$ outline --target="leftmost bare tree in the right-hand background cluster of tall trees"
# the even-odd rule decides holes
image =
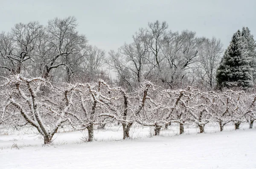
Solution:
[[[125,43],[118,49],[118,53],[111,51],[109,55],[109,66],[118,73],[119,81],[124,82],[126,87],[134,88],[143,81],[149,53],[147,43],[140,34],[133,35],[133,43]]]

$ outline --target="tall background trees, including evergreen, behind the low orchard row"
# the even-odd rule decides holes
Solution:
[[[189,30],[173,32],[157,20],[135,32],[133,42],[108,54],[89,45],[77,27],[75,17],[54,18],[46,26],[15,24],[0,34],[0,74],[54,82],[101,77],[129,90],[143,80],[165,89],[252,89],[255,84],[256,43],[246,27],[233,35],[224,52],[220,39],[198,37]]]

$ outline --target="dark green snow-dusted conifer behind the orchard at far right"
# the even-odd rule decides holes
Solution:
[[[217,85],[233,88],[248,89],[253,86],[253,68],[248,52],[248,43],[245,43],[242,33],[238,30],[232,37],[226,49],[220,66],[217,69]]]

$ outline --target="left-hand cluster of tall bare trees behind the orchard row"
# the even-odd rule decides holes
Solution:
[[[76,30],[75,17],[18,23],[0,34],[0,74],[23,74],[55,82],[92,80],[99,74],[105,51],[88,44]]]

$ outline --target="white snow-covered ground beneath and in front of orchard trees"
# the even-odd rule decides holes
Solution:
[[[65,132],[66,131],[66,132]],[[177,135],[175,125],[153,136],[149,127],[134,127],[131,139],[122,140],[122,127],[95,130],[93,143],[84,143],[85,132],[60,130],[53,144],[32,129],[0,129],[0,169],[254,169],[256,129],[234,130],[232,125],[219,132],[216,125],[186,128]],[[16,144],[19,149],[12,147]],[[12,148],[12,149],[11,149]]]

